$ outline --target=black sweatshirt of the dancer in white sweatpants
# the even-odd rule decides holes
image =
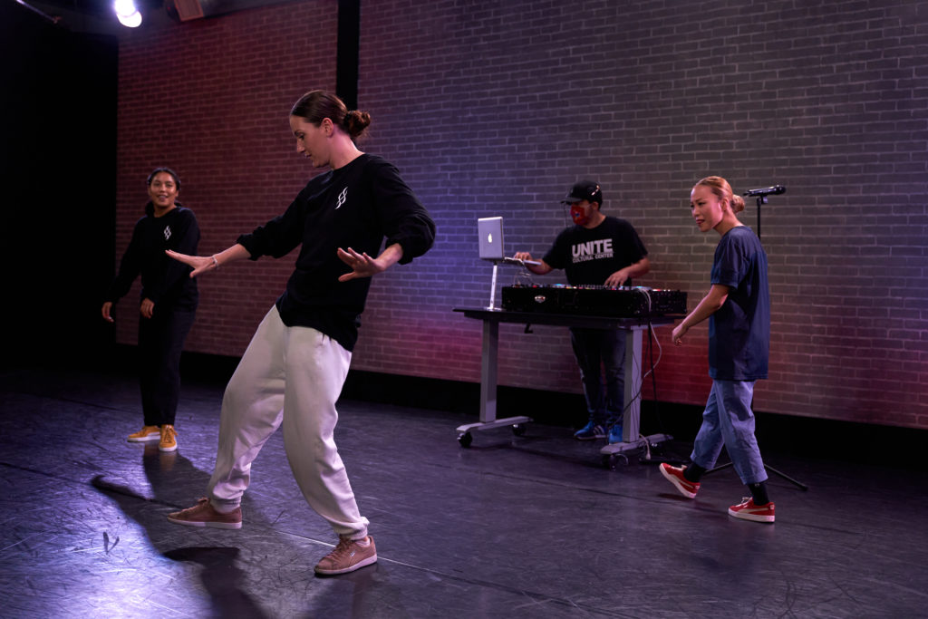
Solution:
[[[280,318],[288,327],[317,329],[351,351],[371,278],[339,281],[351,268],[337,250],[377,257],[384,237],[388,246],[403,247],[400,262],[406,264],[432,247],[435,225],[396,168],[365,154],[313,178],[285,213],[237,242],[252,260],[278,258],[301,246],[287,290],[277,299]]]

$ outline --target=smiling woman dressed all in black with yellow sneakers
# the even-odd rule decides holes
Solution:
[[[180,393],[180,354],[193,325],[199,299],[190,267],[164,255],[165,250],[197,252],[200,226],[193,211],[177,202],[180,179],[169,168],[148,174],[145,216],[135,223],[132,240],[122,254],[119,273],[107,291],[103,318],[113,321],[119,301],[142,275],[138,355],[141,371],[142,429],[129,434],[130,443],[158,441],[161,451],[177,448],[174,415]]]

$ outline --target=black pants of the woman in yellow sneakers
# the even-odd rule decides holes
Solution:
[[[193,310],[168,310],[138,319],[138,353],[145,425],[174,425],[180,397],[180,354],[193,326]]]

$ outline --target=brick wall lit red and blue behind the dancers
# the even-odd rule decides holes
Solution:
[[[118,251],[161,161],[183,174],[204,253],[289,203],[310,172],[291,152],[286,110],[334,82],[331,5],[123,41]],[[773,333],[755,407],[928,428],[926,28],[928,6],[898,0],[362,3],[364,148],[399,166],[439,235],[373,286],[354,368],[479,380],[480,325],[451,311],[489,298],[475,220],[503,215],[509,249],[540,255],[581,177],[647,245],[652,271],[637,283],[687,290],[694,306],[717,235],[693,226],[689,191],[721,174],[739,192],[788,187],[761,211]],[[756,229],[753,200],[742,221]],[[239,355],[288,267],[239,264],[204,280],[188,348]],[[500,285],[515,276],[501,267]],[[657,397],[702,403],[705,327],[683,347],[657,333]],[[501,338],[501,384],[578,392],[563,329],[504,326]]]

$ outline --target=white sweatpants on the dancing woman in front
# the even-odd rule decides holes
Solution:
[[[219,511],[235,509],[248,488],[251,462],[283,422],[284,448],[303,496],[335,529],[367,535],[333,432],[335,402],[351,353],[316,329],[287,327],[277,307],[264,316],[223,397],[219,449],[209,496]]]

